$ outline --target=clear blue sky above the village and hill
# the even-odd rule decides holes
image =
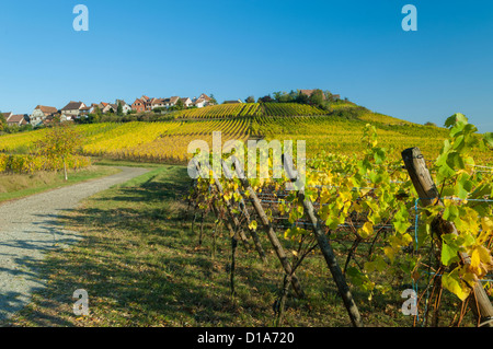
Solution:
[[[74,32],[78,3],[89,32]],[[417,32],[401,9],[417,8]],[[372,110],[493,131],[493,1],[5,0],[0,110],[330,90]]]

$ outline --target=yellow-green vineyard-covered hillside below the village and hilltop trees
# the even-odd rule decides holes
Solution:
[[[300,113],[307,115],[295,115]],[[330,112],[309,105],[252,103],[171,114],[174,119],[167,117],[156,123],[79,125],[77,128],[85,137],[82,151],[88,155],[184,163],[193,140],[204,140],[211,147],[213,132],[220,131],[222,143],[251,138],[305,140],[309,156],[322,151],[349,154],[364,149],[363,128],[371,124],[382,147],[397,150],[420,147],[428,159],[434,159],[448,135],[444,128],[400,120],[351,103],[334,105]],[[30,152],[44,132],[2,136],[0,151]]]

